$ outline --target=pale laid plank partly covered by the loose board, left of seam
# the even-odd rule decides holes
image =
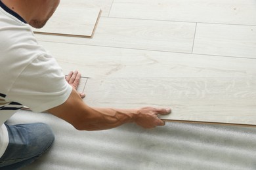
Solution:
[[[93,39],[36,37],[39,41],[191,53],[195,28],[194,23],[100,18]]]

